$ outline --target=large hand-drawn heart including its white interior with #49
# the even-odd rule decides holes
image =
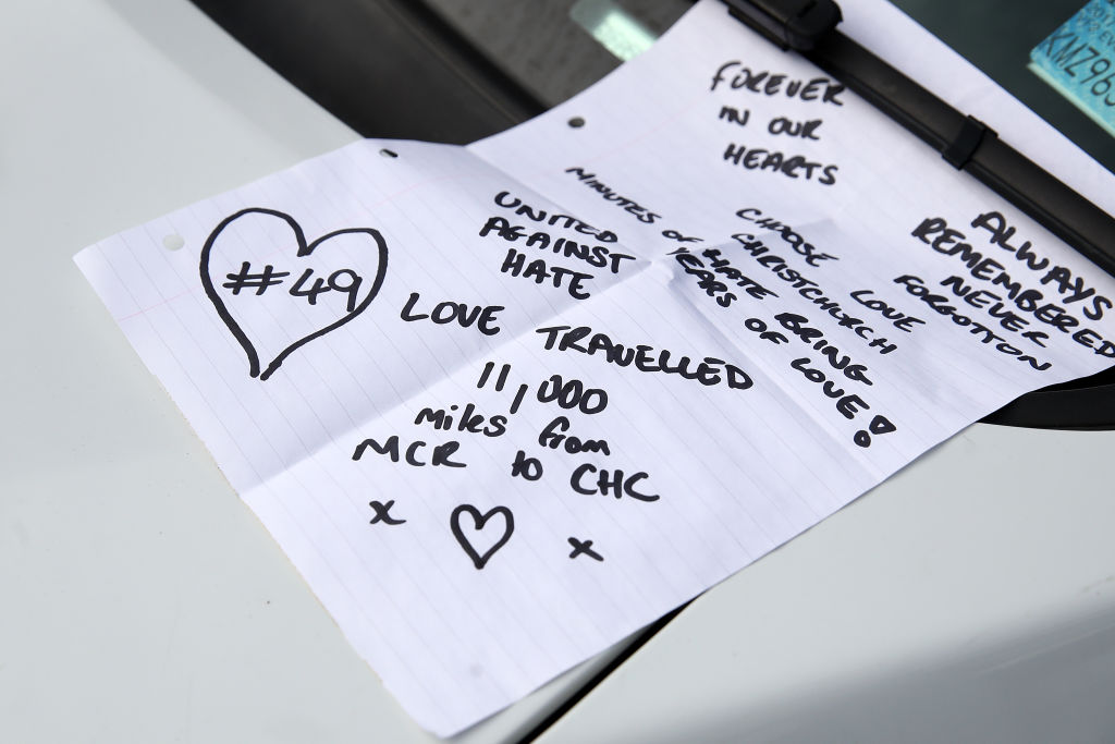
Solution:
[[[330,241],[339,248],[326,251],[323,259],[311,262],[311,257],[317,259],[314,251],[329,248]],[[291,248],[297,250],[291,251]],[[345,250],[358,253],[360,265],[370,267],[375,262],[374,270],[366,269],[367,274],[374,271],[375,276],[361,277],[348,267],[328,274],[328,269],[314,273],[322,261],[343,258]],[[242,259],[253,259],[254,267],[253,261]],[[227,273],[229,281],[225,282],[221,281],[224,270],[213,269],[216,271],[214,282],[211,261],[225,269],[237,263],[241,268],[239,273]],[[272,261],[279,263],[280,269],[290,270],[277,271]],[[312,268],[311,263],[314,264]],[[294,218],[275,210],[249,207],[225,218],[210,233],[202,248],[200,270],[205,294],[248,355],[249,374],[265,380],[293,351],[340,328],[371,305],[387,273],[387,243],[379,231],[371,228],[334,230],[308,243]],[[251,273],[253,271],[255,273]],[[266,299],[260,299],[259,296],[264,292],[268,292]],[[319,302],[319,297],[324,299]],[[268,307],[264,302],[269,303]],[[274,308],[287,309],[281,307],[284,303],[301,305],[297,311],[277,315]],[[234,317],[231,305],[236,306],[240,320]],[[279,316],[294,318],[297,322],[290,328],[273,328]],[[245,331],[245,318],[251,318],[254,323],[254,342]],[[268,336],[270,342],[261,336]],[[280,350],[261,371],[260,354],[269,348]]]

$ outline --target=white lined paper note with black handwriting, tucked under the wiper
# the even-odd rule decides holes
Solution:
[[[443,735],[1115,359],[1111,277],[711,2],[498,137],[357,143],[77,262]]]

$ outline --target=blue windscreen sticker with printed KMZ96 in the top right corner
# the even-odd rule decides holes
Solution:
[[[1030,51],[1029,67],[1115,135],[1115,0],[1089,0]]]

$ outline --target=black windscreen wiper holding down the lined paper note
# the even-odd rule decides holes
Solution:
[[[1115,219],[1043,167],[836,30],[833,0],[724,0],[730,13],[794,49],[1115,277]]]

